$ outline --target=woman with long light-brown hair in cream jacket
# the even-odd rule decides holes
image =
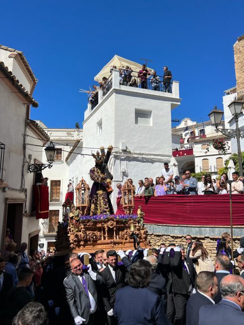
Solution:
[[[195,263],[197,274],[201,271],[214,272],[214,263],[210,258],[207,249],[203,246],[201,240],[196,240],[192,244],[189,257],[191,259],[195,259],[195,258],[197,259]]]

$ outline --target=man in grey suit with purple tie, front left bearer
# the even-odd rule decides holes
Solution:
[[[94,281],[102,284],[101,275],[92,271],[83,272],[83,264],[78,258],[70,262],[71,274],[64,279],[66,299],[76,325],[95,325],[97,310],[97,290]]]

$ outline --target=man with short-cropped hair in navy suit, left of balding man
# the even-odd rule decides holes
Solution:
[[[218,280],[213,272],[202,271],[196,277],[198,291],[191,295],[186,305],[186,324],[199,324],[199,309],[203,305],[214,305],[218,293]]]

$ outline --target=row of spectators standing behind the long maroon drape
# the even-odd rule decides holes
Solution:
[[[186,171],[181,179],[178,175],[173,178],[173,170],[169,168],[167,162],[164,163],[161,176],[156,177],[155,183],[151,177],[145,177],[144,181],[138,181],[138,188],[133,185],[132,179],[127,179],[126,183],[132,185],[135,197],[159,197],[163,195],[213,195],[228,194],[230,184],[228,175],[223,173],[220,180],[212,179],[210,174],[202,176],[201,182],[191,177],[191,172]],[[244,179],[239,177],[238,172],[232,173],[233,181],[231,183],[232,194],[242,194],[244,192]],[[122,184],[117,184],[117,200],[122,198]]]

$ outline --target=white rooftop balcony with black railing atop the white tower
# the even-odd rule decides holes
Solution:
[[[163,85],[162,77],[159,76],[160,80],[158,81],[158,85],[155,85],[151,81],[150,76],[146,79],[146,82],[142,86],[140,78],[138,77],[138,72],[132,72],[131,75],[130,81],[123,80],[120,77],[120,71],[115,69],[108,78],[106,84],[98,91],[95,103],[88,104],[88,108],[85,111],[85,119],[93,112],[95,108],[100,107],[103,100],[112,94],[113,90],[128,91],[130,93],[134,93],[135,96],[138,96],[138,94],[144,94],[165,97],[165,100],[168,101],[171,99],[171,102],[175,102],[176,106],[179,105],[181,100],[179,97],[178,81],[173,81],[170,84],[170,87],[166,89],[165,85]],[[132,96],[132,94],[129,95]]]

